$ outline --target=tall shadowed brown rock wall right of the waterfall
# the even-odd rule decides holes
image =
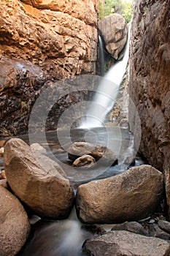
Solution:
[[[139,150],[151,165],[165,171],[170,206],[169,1],[137,0],[134,10],[129,92],[141,120]],[[134,132],[131,107],[130,125]]]

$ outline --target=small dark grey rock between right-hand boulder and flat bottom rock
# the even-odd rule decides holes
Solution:
[[[126,230],[143,236],[149,235],[147,230],[145,230],[144,227],[139,224],[139,222],[124,222],[121,224],[115,224],[111,230]]]

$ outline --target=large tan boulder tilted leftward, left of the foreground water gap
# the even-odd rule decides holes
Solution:
[[[61,167],[39,165],[31,148],[20,139],[11,139],[4,150],[4,168],[12,191],[39,217],[62,219],[68,216],[74,193]],[[50,161],[50,160],[49,160]],[[57,165],[57,164],[56,164]],[[63,170],[62,170],[63,172]]]

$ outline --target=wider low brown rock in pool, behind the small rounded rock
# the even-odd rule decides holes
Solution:
[[[68,148],[68,157],[71,160],[87,154],[96,159],[96,161],[100,160],[101,163],[112,165],[117,162],[114,152],[110,148],[107,148],[107,146],[80,141],[72,143],[72,146]]]

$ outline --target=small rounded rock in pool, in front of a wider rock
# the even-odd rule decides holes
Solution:
[[[96,160],[87,154],[75,159],[72,165],[75,167],[90,168],[90,167],[94,167],[95,163],[96,163]]]

